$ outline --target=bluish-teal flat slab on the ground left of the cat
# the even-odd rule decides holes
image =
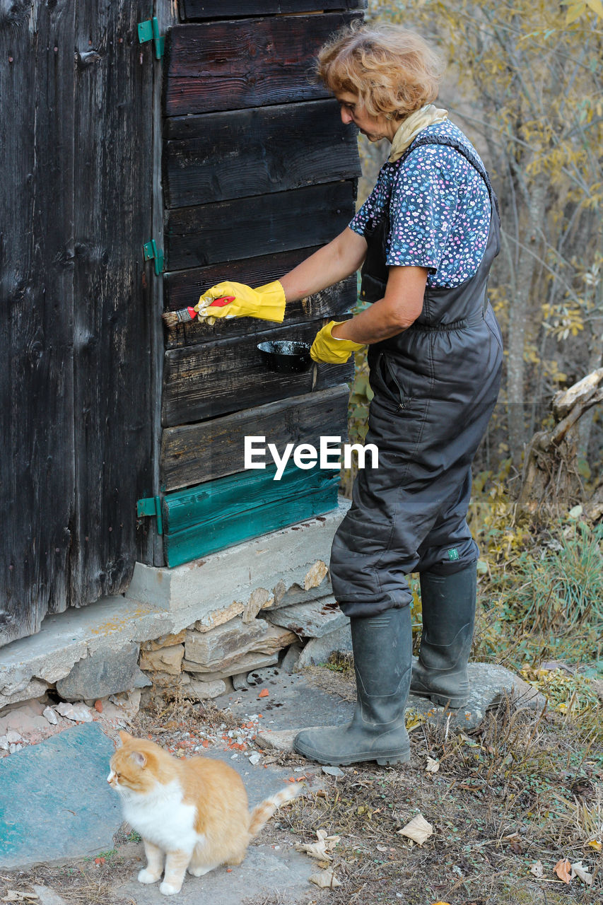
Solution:
[[[110,738],[94,723],[0,760],[0,868],[108,851],[122,823],[107,785]]]

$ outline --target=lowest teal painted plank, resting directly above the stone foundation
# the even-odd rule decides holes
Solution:
[[[296,521],[311,519],[337,507],[339,478],[311,494],[292,500],[278,500],[261,509],[238,512],[229,519],[196,525],[176,534],[164,535],[164,550],[169,567],[180,566],[216,550],[257,538]]]

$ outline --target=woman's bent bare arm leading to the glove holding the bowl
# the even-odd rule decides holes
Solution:
[[[332,336],[363,345],[396,336],[410,327],[423,310],[426,281],[425,267],[390,267],[383,299],[334,327]]]

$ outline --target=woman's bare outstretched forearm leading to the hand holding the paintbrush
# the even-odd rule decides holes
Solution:
[[[359,269],[366,254],[367,240],[346,227],[332,242],[279,279],[286,300],[303,299],[349,277]]]

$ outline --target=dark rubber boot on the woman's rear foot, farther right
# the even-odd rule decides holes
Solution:
[[[474,637],[475,565],[453,575],[421,575],[423,634],[413,663],[410,693],[441,707],[464,707],[469,700],[467,662]]]

